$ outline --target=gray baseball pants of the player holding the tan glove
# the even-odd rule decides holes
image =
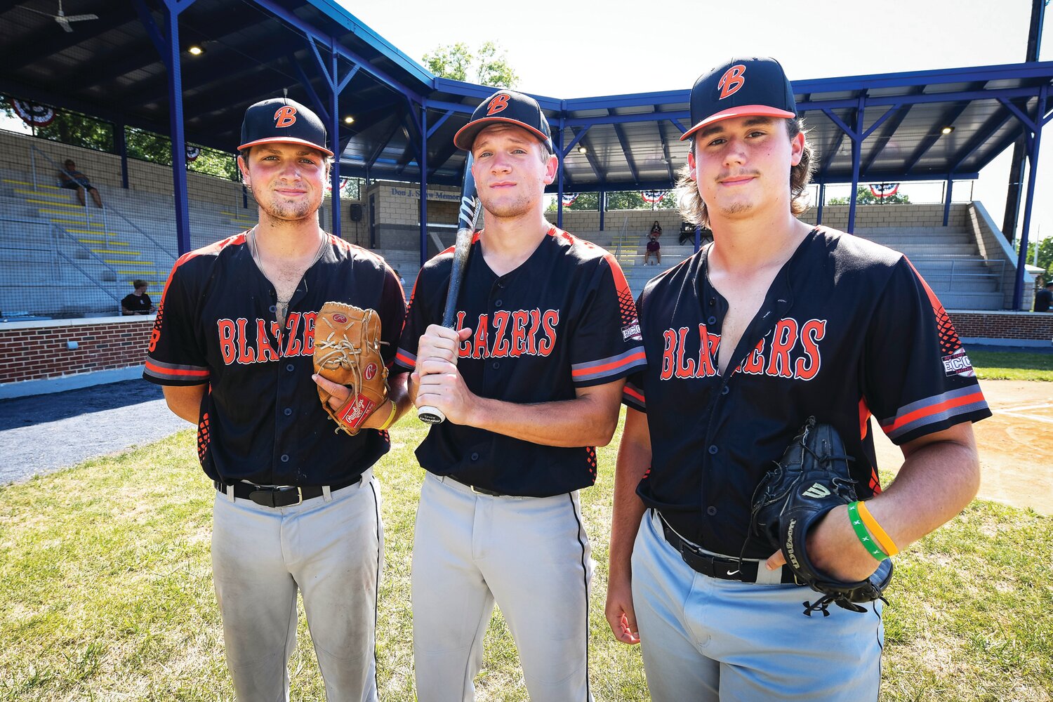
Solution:
[[[326,699],[376,701],[383,539],[372,470],[360,483],[290,507],[217,493],[212,569],[239,702],[289,700],[297,589]]]

